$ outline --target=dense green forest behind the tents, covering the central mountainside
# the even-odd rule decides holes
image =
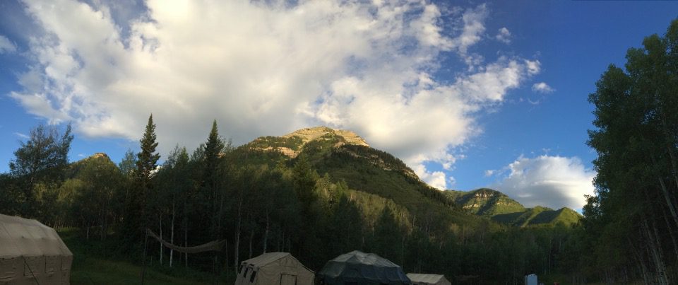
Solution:
[[[225,280],[263,252],[292,252],[318,271],[362,250],[455,283],[521,284],[536,273],[568,283],[671,284],[678,280],[678,21],[630,49],[625,69],[609,66],[596,87],[588,141],[598,153],[596,194],[573,225],[469,213],[398,158],[327,128],[307,141],[266,136],[236,147],[215,121],[197,149],[177,145],[161,159],[152,115],[140,151],[119,163],[105,153],[69,162],[71,127],[35,127],[0,175],[0,211],[78,228],[100,254],[137,263],[145,228],[181,246],[223,239],[219,252],[189,255],[151,242],[148,255],[161,267]]]

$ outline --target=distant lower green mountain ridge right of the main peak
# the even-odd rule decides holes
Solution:
[[[581,218],[576,211],[566,207],[558,210],[540,206],[525,208],[506,194],[487,188],[469,192],[448,190],[445,194],[470,214],[512,226],[571,225]]]

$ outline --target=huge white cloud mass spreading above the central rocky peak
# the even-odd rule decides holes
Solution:
[[[451,149],[480,132],[477,115],[540,71],[536,60],[482,64],[470,52],[484,38],[484,5],[452,12],[444,33],[451,15],[423,0],[150,0],[143,13],[95,3],[25,0],[45,34],[32,37],[24,90],[11,96],[90,137],[137,140],[153,112],[163,153],[197,146],[213,119],[235,144],[323,124],[444,188],[445,174],[423,163],[451,169]],[[434,78],[451,52],[472,68]]]

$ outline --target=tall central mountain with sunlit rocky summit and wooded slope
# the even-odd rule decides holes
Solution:
[[[410,217],[448,225],[441,228],[481,221],[420,180],[403,161],[372,148],[354,132],[312,127],[283,136],[262,136],[234,152],[239,163],[270,166],[284,163],[289,167],[303,156],[319,175],[326,175],[333,182],[345,182],[356,192],[393,201],[407,209]]]

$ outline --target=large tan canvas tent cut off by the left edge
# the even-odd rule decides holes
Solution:
[[[54,228],[0,214],[0,284],[70,284],[71,262]]]

